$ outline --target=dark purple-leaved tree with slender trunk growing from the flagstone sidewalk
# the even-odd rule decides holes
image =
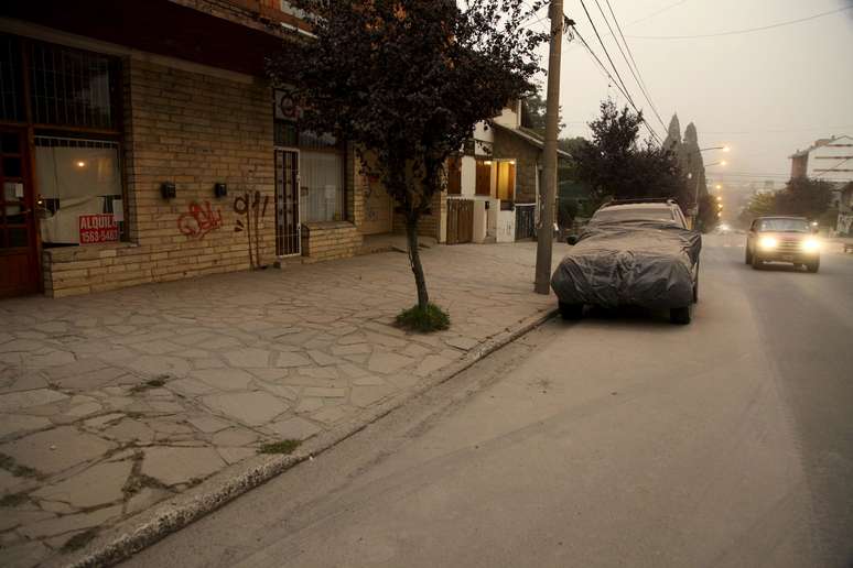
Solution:
[[[446,183],[445,162],[477,122],[535,92],[536,47],[525,26],[543,2],[525,0],[293,0],[313,36],[269,62],[276,84],[303,101],[303,127],[352,142],[406,223],[418,292],[431,308],[418,225]],[[432,306],[434,308],[434,306]],[[433,310],[434,313],[434,310]]]

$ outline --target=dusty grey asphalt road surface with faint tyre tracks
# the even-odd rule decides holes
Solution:
[[[853,256],[708,238],[689,327],[553,320],[129,566],[853,566]]]

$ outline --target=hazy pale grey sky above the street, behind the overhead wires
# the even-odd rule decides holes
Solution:
[[[710,167],[710,178],[723,174],[731,182],[781,182],[790,173],[788,156],[797,149],[818,138],[853,135],[853,9],[738,35],[639,37],[760,28],[853,7],[853,0],[609,1],[663,121],[669,124],[678,112],[682,132],[689,122],[695,123],[701,146],[731,146],[728,154],[704,153],[705,163],[728,162]],[[595,0],[584,2],[634,101],[663,138],[666,129],[644,99],[614,39],[605,36],[609,32]],[[609,15],[606,1],[598,2]],[[566,15],[606,64],[581,1],[563,3]],[[547,65],[547,51],[543,54]],[[586,122],[608,95],[626,102],[608,84],[580,41],[563,44],[560,103],[566,129],[562,135],[589,135]]]

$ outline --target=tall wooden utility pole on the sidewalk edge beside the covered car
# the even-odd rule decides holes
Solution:
[[[563,42],[563,0],[551,0],[551,50],[548,57],[548,102],[543,187],[540,188],[542,214],[536,247],[537,294],[551,290],[551,249],[554,239],[554,201],[557,200],[557,136],[560,129],[560,55]]]

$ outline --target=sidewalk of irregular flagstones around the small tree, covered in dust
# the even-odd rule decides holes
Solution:
[[[261,444],[366,415],[552,309],[532,293],[535,254],[422,251],[453,321],[430,336],[391,326],[414,298],[398,252],[0,303],[0,564],[55,560]]]

